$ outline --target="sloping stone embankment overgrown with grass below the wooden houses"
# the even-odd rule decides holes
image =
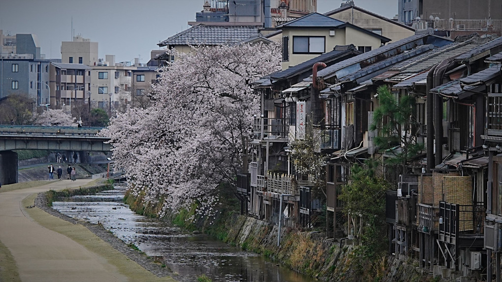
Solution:
[[[145,216],[155,217],[158,206],[145,206],[142,197],[126,195],[126,203]],[[326,239],[323,233],[281,228],[281,242],[277,246],[278,226],[238,214],[228,207],[220,207],[210,218],[195,215],[196,204],[189,209],[169,213],[163,220],[186,228],[216,236],[243,250],[261,253],[280,261],[298,272],[329,281],[433,281],[413,260],[401,261],[383,255],[366,257],[361,247],[340,246],[339,241]],[[418,265],[418,263],[415,263]]]

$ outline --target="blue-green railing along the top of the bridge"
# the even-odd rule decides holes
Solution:
[[[102,127],[0,125],[2,135],[97,135]]]

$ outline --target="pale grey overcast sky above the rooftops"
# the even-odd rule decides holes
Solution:
[[[398,0],[354,0],[356,6],[393,18]],[[340,0],[317,0],[317,12],[339,8]],[[46,58],[61,58],[61,42],[71,41],[71,27],[99,43],[99,58],[141,63],[150,59],[157,43],[195,21],[204,0],[0,0],[0,29],[4,34],[35,34]]]

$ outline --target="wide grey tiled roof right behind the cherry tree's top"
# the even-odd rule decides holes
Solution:
[[[227,45],[248,39],[258,34],[258,27],[219,27],[200,24],[182,31],[163,42],[160,47],[167,45]]]

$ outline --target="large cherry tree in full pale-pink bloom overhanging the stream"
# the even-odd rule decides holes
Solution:
[[[250,82],[280,69],[277,44],[192,46],[161,70],[146,108],[118,114],[102,134],[133,193],[164,209],[197,200],[213,212],[217,188],[235,184],[260,97]],[[176,51],[174,51],[176,52]],[[162,215],[162,212],[160,212]]]

